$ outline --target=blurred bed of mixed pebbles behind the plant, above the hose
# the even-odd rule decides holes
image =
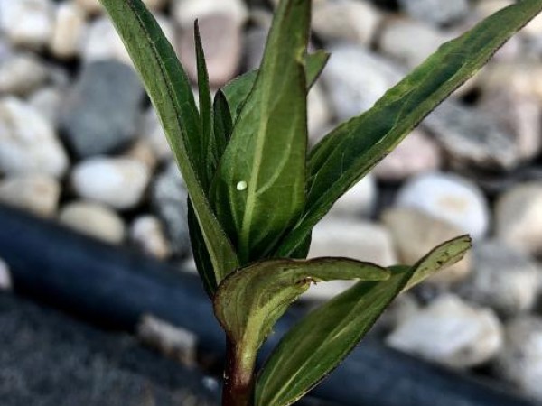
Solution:
[[[257,68],[274,2],[145,3],[192,80],[196,18],[213,88]],[[310,143],[369,109],[441,43],[512,3],[314,0],[312,48],[332,58],[309,95]],[[311,248],[311,256],[392,265],[472,235],[472,254],[399,298],[373,334],[538,401],[541,125],[538,17],[341,199],[314,229]],[[194,272],[186,198],[154,110],[98,1],[0,0],[0,202]],[[5,290],[9,268],[0,261]],[[322,284],[305,300],[345,287]]]

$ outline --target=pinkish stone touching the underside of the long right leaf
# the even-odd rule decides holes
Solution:
[[[379,180],[406,180],[422,172],[438,171],[443,161],[440,147],[418,128],[378,163],[372,173]]]

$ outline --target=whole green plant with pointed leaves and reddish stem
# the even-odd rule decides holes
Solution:
[[[306,54],[311,2],[282,0],[259,71],[211,98],[197,23],[199,108],[141,0],[100,0],[141,74],[190,193],[192,247],[226,331],[225,406],[284,406],[329,374],[391,300],[463,257],[460,236],[414,266],[304,260],[313,226],[455,88],[542,10],[522,0],[444,44],[368,112],[307,152],[306,94],[325,66]],[[312,283],[358,280],[297,324],[255,373],[259,347]]]

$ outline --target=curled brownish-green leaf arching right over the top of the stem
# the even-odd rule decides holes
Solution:
[[[360,279],[384,281],[389,272],[372,263],[343,258],[273,260],[231,273],[221,284],[214,309],[230,342],[254,360],[271,329],[311,283]],[[252,362],[248,368],[253,366]]]

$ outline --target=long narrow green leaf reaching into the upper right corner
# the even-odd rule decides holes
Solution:
[[[470,32],[445,43],[368,112],[339,126],[318,143],[308,163],[304,217],[276,255],[293,253],[337,199],[541,10],[542,0],[523,0],[493,14]]]

